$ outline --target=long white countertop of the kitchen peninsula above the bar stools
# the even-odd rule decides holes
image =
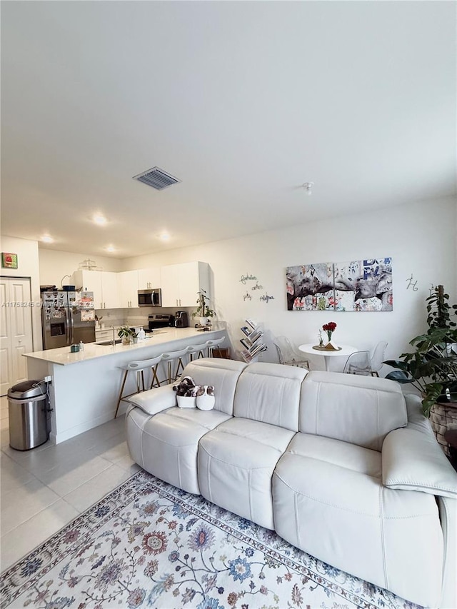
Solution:
[[[196,338],[196,344],[201,344],[214,338],[214,333],[219,333],[225,330],[224,324],[214,324],[211,331],[199,331],[197,328],[160,328],[154,330],[152,334],[146,334],[144,341],[131,345],[97,345],[97,343],[85,343],[84,351],[71,353],[69,347],[59,347],[56,349],[46,349],[46,351],[34,351],[32,353],[24,353],[26,358],[34,358],[44,362],[56,363],[60,366],[69,366],[69,364],[88,361],[96,358],[116,355],[118,353],[126,353],[128,351],[140,351],[138,353],[141,359],[141,349],[160,345],[162,343],[172,343],[180,341],[183,338]],[[116,338],[119,338],[116,334]],[[168,348],[169,350],[169,348]]]

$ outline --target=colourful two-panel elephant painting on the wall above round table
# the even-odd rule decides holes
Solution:
[[[392,258],[286,268],[288,311],[392,311]]]

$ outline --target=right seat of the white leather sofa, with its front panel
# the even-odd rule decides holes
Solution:
[[[443,534],[435,498],[383,487],[377,451],[298,436],[273,473],[278,535],[402,598],[439,606]]]

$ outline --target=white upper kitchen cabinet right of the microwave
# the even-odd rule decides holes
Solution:
[[[209,293],[209,265],[206,262],[186,262],[161,267],[162,306],[195,307],[197,292]]]

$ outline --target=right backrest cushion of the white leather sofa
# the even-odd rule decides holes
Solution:
[[[408,418],[401,387],[386,378],[308,373],[301,389],[299,430],[381,451]]]

